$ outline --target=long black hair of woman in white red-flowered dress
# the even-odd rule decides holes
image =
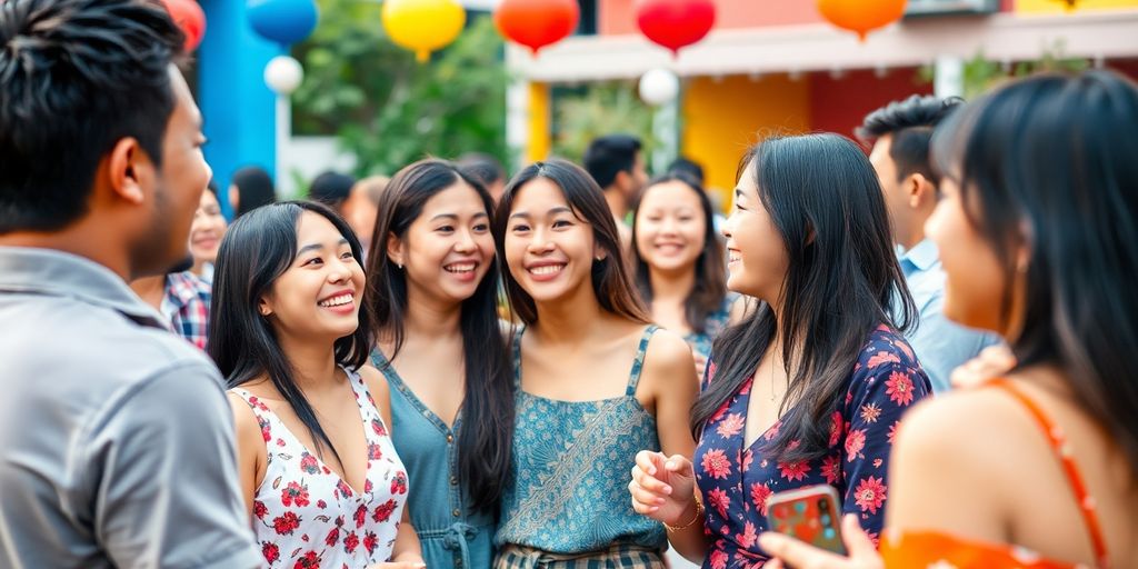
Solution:
[[[208,353],[229,387],[239,387],[269,376],[273,387],[308,429],[316,444],[316,454],[321,455],[322,448],[328,446],[340,461],[315,411],[296,385],[296,371],[288,355],[281,351],[277,331],[258,310],[261,298],[272,290],[277,279],[296,261],[297,224],[305,212],[331,222],[347,239],[352,255],[356,259],[363,258],[360,240],[348,224],[328,206],[314,201],[270,204],[238,217],[225,232],[214,265]],[[369,312],[361,310],[355,332],[336,340],[338,364],[360,369],[368,363],[370,327]]]

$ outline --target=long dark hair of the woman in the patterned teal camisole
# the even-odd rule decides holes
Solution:
[[[494,240],[497,241],[498,257],[505,259],[505,233],[510,222],[510,211],[513,200],[530,181],[544,178],[561,189],[574,215],[593,228],[593,238],[604,249],[605,257],[593,262],[593,292],[601,308],[626,319],[649,323],[648,308],[644,300],[636,294],[632,277],[625,265],[625,254],[620,237],[617,233],[617,222],[604,201],[604,192],[587,172],[576,164],[562,159],[536,162],[526,166],[506,184],[505,193],[498,204],[494,216]],[[510,274],[503,262],[502,279],[505,292],[510,298],[510,310],[526,324],[537,322],[537,305],[534,297]]]

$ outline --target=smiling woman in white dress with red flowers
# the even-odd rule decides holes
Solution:
[[[387,385],[363,366],[361,255],[343,220],[303,201],[241,216],[217,255],[209,355],[231,387],[238,473],[270,564],[421,561]]]

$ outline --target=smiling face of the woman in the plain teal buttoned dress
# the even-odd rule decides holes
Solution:
[[[446,304],[470,298],[494,259],[489,224],[481,197],[465,182],[428,199],[402,238],[388,238],[387,255],[403,265],[409,295]]]

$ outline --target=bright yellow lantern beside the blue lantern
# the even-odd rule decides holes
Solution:
[[[455,0],[385,0],[384,28],[397,46],[415,52],[420,63],[454,41],[467,23]]]

